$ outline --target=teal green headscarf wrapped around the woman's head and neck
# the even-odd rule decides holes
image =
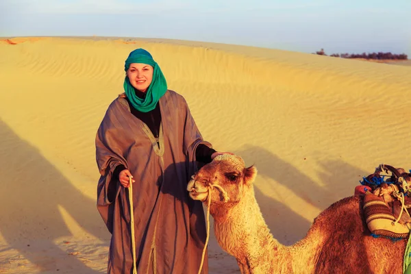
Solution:
[[[127,71],[132,63],[142,63],[153,66],[153,80],[151,81],[149,88],[147,88],[145,99],[140,99],[136,96],[134,87],[130,84],[127,75],[125,75],[124,79],[125,95],[127,95],[130,103],[132,103],[134,108],[140,112],[149,112],[155,108],[155,105],[157,105],[160,97],[166,93],[166,78],[162,74],[160,66],[158,66],[158,64],[153,60],[151,54],[145,49],[135,49],[130,52],[127,60],[125,60],[124,70]]]

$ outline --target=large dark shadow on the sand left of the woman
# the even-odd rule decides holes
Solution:
[[[77,190],[38,149],[21,140],[3,121],[0,136],[0,233],[5,241],[42,271],[57,268],[53,260],[42,256],[42,250],[47,250],[47,254],[65,256],[66,265],[76,273],[98,273],[53,243],[56,238],[71,236],[59,207],[86,232],[108,240],[110,234],[97,212],[96,201]],[[60,271],[69,273],[70,269]]]

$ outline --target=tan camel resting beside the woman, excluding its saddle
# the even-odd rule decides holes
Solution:
[[[187,186],[190,197],[207,206],[210,195],[216,240],[236,258],[242,274],[403,273],[407,240],[371,236],[359,196],[321,212],[294,245],[280,244],[254,196],[256,175],[255,166],[246,168],[238,155],[224,154],[199,169]]]

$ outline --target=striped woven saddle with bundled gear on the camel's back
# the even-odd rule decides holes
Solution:
[[[374,173],[363,179],[360,182],[364,187],[362,208],[371,233],[388,238],[408,238],[411,230],[411,173],[380,164]]]

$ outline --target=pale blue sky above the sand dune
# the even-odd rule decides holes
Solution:
[[[411,0],[0,1],[0,36],[93,35],[411,59]]]

